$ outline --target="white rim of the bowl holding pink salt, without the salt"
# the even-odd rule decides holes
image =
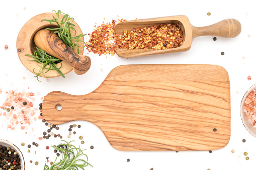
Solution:
[[[247,130],[252,136],[256,137],[256,128],[254,128],[254,127],[250,124],[250,122],[249,122],[249,120],[248,120],[248,118],[247,118],[247,116],[246,116],[246,114],[245,114],[245,112],[244,112],[244,101],[245,101],[246,97],[250,94],[250,92],[252,92],[254,89],[256,90],[256,84],[252,85],[252,86],[246,91],[246,93],[243,95],[243,98],[242,98],[242,101],[241,101],[241,104],[240,104],[240,116],[241,116],[242,123],[243,123],[244,127],[246,128],[246,130]]]

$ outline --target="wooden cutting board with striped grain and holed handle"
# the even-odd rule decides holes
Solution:
[[[230,138],[229,77],[215,65],[123,65],[90,94],[49,93],[42,113],[92,122],[118,150],[214,150]]]

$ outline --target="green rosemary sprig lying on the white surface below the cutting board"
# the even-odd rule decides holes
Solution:
[[[44,165],[44,170],[72,170],[72,169],[77,169],[81,168],[84,170],[84,167],[90,165],[92,166],[89,162],[88,162],[88,156],[86,154],[84,154],[79,146],[75,147],[73,145],[71,145],[70,142],[67,142],[65,140],[62,140],[65,143],[64,144],[59,144],[57,146],[52,146],[54,147],[56,150],[59,150],[61,152],[61,159],[59,162],[56,162],[57,157],[55,159],[55,161],[53,162],[53,164],[51,165],[51,167],[49,167],[46,162]],[[60,147],[58,147],[60,146]],[[64,148],[62,148],[64,147]],[[85,150],[85,149],[84,149]],[[85,155],[87,157],[87,160],[83,160],[83,159],[79,159],[79,156]],[[93,166],[92,166],[93,167]]]

